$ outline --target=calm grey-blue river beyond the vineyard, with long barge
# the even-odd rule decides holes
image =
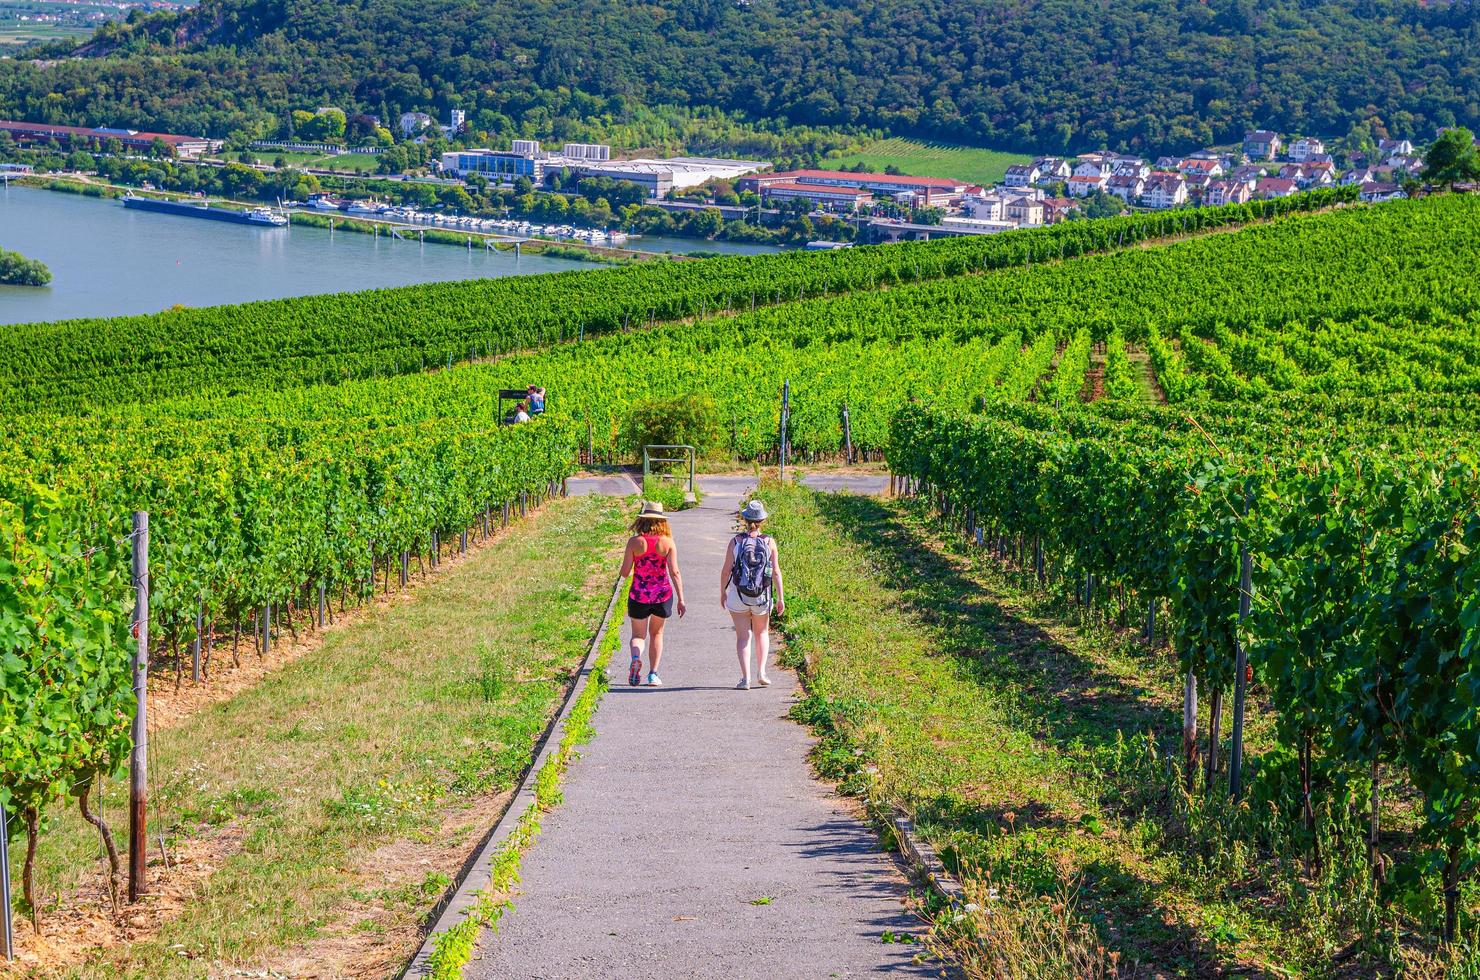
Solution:
[[[50,286],[0,286],[0,324],[601,268],[303,225],[256,228],[155,215],[27,187],[0,189],[0,247],[52,269]],[[635,238],[633,247],[774,250],[650,238]]]

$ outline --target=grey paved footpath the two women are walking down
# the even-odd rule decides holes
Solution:
[[[596,737],[468,977],[935,976],[910,962],[918,946],[881,942],[919,921],[873,832],[811,777],[808,734],[786,719],[795,677],[734,690],[719,563],[753,481],[700,486],[703,505],[672,518],[690,607],[667,626],[665,687],[628,687],[628,654],[613,657]]]

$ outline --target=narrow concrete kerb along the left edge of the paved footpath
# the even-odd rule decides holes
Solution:
[[[555,714],[551,724],[545,728],[539,749],[525,767],[524,776],[519,779],[519,786],[509,799],[509,805],[505,807],[503,816],[499,817],[499,822],[494,823],[493,829],[488,830],[487,836],[484,836],[482,844],[475,851],[474,857],[463,865],[453,890],[443,899],[441,903],[438,903],[437,907],[432,909],[428,916],[429,919],[435,919],[432,928],[428,930],[426,936],[422,939],[422,946],[406,965],[406,970],[401,971],[401,980],[428,976],[428,961],[432,955],[437,937],[463,921],[463,916],[466,916],[468,910],[478,900],[478,893],[488,885],[491,879],[493,860],[499,856],[503,842],[514,832],[515,826],[518,826],[525,811],[536,805],[534,779],[549,755],[559,749],[559,743],[565,736],[565,722],[568,721],[570,712],[576,705],[576,699],[580,697],[580,693],[588,684],[591,684],[596,656],[601,651],[601,641],[611,628],[611,613],[617,608],[617,600],[622,595],[622,585],[623,579],[617,579],[611,586],[611,598],[607,600],[607,611],[601,616],[601,625],[596,626],[596,632],[591,640],[591,647],[586,650],[586,659],[580,665],[574,684],[571,684],[570,690],[565,693],[565,700],[561,705],[559,712]]]

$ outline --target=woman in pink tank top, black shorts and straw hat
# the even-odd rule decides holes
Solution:
[[[642,682],[642,650],[648,653],[648,687],[662,687],[657,663],[663,659],[663,625],[676,610],[684,614],[684,577],[678,571],[678,546],[662,503],[642,503],[632,523],[632,537],[622,555],[622,577],[632,576],[628,616],[632,617],[632,663],[628,684]]]

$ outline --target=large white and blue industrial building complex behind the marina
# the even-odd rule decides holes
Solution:
[[[512,184],[528,178],[536,185],[561,170],[583,178],[610,178],[642,187],[648,197],[662,198],[709,181],[725,181],[767,169],[761,160],[721,160],[715,157],[670,157],[656,160],[613,160],[605,144],[565,144],[559,152],[540,150],[534,139],[517,139],[512,150],[454,150],[443,154],[443,173],[468,176],[482,173]]]

